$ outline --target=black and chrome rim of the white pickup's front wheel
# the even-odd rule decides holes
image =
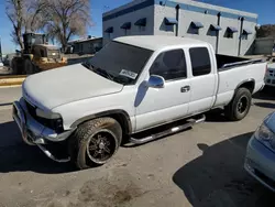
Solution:
[[[116,153],[117,145],[114,134],[102,129],[89,139],[87,155],[92,162],[103,164]]]

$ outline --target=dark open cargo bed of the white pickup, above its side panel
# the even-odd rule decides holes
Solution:
[[[216,59],[219,72],[228,70],[238,66],[263,62],[263,59],[251,59],[251,58],[220,55],[220,54],[216,54]]]

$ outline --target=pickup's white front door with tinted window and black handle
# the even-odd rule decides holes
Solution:
[[[135,131],[170,122],[188,115],[190,81],[183,48],[165,51],[156,57],[150,75],[165,79],[163,88],[141,84],[135,101]]]

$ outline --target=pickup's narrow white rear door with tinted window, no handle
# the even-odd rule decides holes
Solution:
[[[204,112],[212,107],[216,99],[217,74],[208,47],[189,48],[190,102],[189,115]]]

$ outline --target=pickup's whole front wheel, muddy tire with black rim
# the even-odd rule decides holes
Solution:
[[[78,168],[89,168],[107,163],[117,153],[121,140],[122,129],[117,120],[98,118],[78,127],[69,139],[68,153]]]

